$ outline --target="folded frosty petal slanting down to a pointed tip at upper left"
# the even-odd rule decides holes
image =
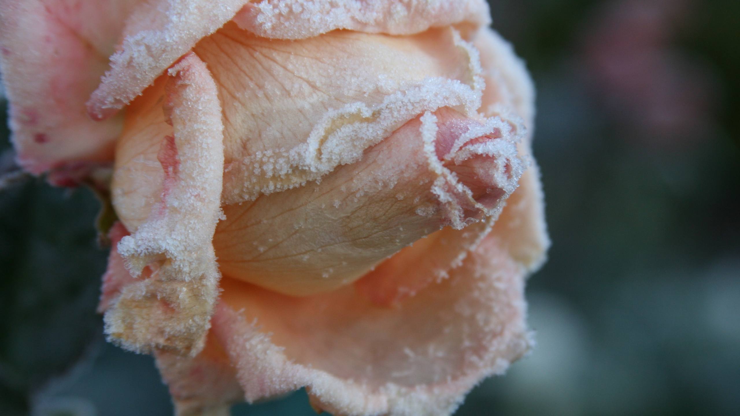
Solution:
[[[126,22],[124,39],[110,57],[110,70],[90,97],[90,115],[106,118],[124,107],[247,1],[142,1]]]

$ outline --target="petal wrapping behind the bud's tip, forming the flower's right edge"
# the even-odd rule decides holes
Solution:
[[[549,240],[545,230],[539,170],[531,158],[534,88],[511,45],[493,30],[480,30],[473,43],[480,50],[482,77],[485,79],[483,114],[502,118],[511,123],[512,129],[519,130],[518,137],[522,140],[518,144],[518,152],[528,161],[529,167],[519,180],[519,188],[506,199],[499,218],[492,217],[487,224],[462,230],[436,232],[401,250],[357,281],[357,290],[376,303],[401,301],[429,284],[443,280],[491,229],[514,259],[528,269],[534,271],[545,260]],[[496,225],[491,227],[494,220]]]

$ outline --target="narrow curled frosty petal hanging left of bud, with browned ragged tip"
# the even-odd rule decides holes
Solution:
[[[145,267],[152,275],[123,289],[105,323],[127,349],[196,354],[218,295],[211,241],[221,216],[223,124],[215,84],[198,56],[185,56],[168,75],[163,110],[173,135],[160,145],[161,202],[118,243],[132,275]]]

